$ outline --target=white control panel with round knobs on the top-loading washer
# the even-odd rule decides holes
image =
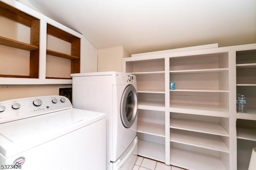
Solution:
[[[0,123],[71,109],[64,96],[41,96],[0,101]]]

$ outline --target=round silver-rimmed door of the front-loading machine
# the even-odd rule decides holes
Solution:
[[[130,128],[133,125],[137,115],[137,106],[136,89],[133,85],[128,85],[124,89],[120,105],[120,115],[124,127]]]

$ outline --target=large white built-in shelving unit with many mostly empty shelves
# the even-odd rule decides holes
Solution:
[[[256,143],[248,126],[256,121],[256,44],[136,54],[123,71],[138,82],[139,155],[189,170],[246,169],[239,159]],[[247,113],[236,113],[236,93]]]

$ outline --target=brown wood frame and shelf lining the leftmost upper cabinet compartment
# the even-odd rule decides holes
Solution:
[[[30,75],[0,75],[0,77],[38,78],[39,74],[39,28],[40,20],[4,2],[0,2],[0,16],[30,27],[30,44],[0,37],[0,44],[30,51]]]

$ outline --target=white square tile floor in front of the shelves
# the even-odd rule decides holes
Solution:
[[[184,170],[176,166],[168,166],[162,162],[138,156],[132,170]]]

